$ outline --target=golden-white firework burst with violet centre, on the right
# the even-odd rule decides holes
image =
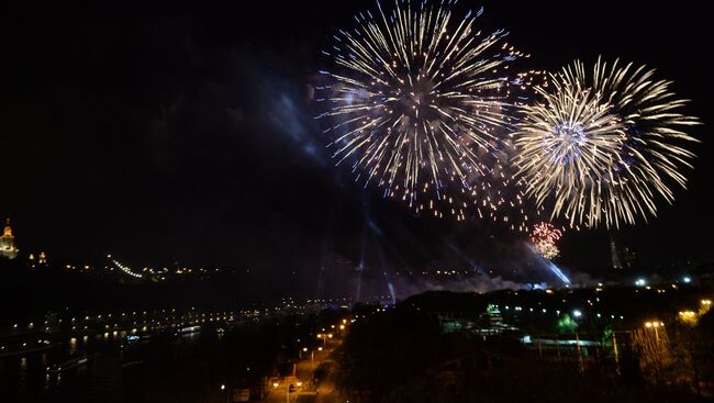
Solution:
[[[694,154],[682,147],[696,139],[683,131],[699,124],[681,114],[670,81],[633,64],[595,64],[592,75],[574,61],[548,85],[536,87],[540,102],[525,105],[512,136],[514,164],[525,193],[550,217],[570,226],[620,227],[656,216],[656,199],[672,203],[672,183]]]

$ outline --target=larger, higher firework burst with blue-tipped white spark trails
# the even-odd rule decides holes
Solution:
[[[481,201],[462,195],[490,186],[472,179],[494,173],[483,156],[498,160],[502,133],[513,127],[505,70],[523,55],[502,43],[503,30],[478,31],[481,11],[458,20],[455,3],[397,1],[389,12],[377,2],[376,15],[357,15],[358,26],[339,31],[325,52],[337,69],[321,71],[332,83],[317,87],[326,93],[317,101],[328,104],[319,119],[332,122],[333,157],[350,161],[357,180],[377,182],[416,212],[443,216],[446,204],[464,220],[465,208]]]

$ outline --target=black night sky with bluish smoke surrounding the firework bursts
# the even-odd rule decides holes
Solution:
[[[461,5],[477,8],[469,0]],[[714,260],[710,176],[712,23],[702,2],[489,1],[486,30],[556,70],[573,58],[625,60],[674,81],[696,169],[660,216],[615,235],[644,265]],[[568,5],[569,4],[569,5]],[[371,1],[0,11],[0,216],[24,253],[260,267],[360,260],[391,269],[499,261],[514,237],[413,216],[334,167],[309,83],[320,51]],[[3,5],[5,8],[5,5]],[[607,265],[605,231],[568,233],[561,264]],[[365,247],[362,247],[366,245]],[[451,246],[448,246],[451,245]]]

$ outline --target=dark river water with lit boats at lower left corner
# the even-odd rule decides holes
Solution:
[[[200,334],[134,335],[130,340],[108,332],[55,342],[42,354],[2,359],[0,402],[142,402],[153,380],[169,371],[170,362]],[[88,361],[59,373],[47,372],[72,356],[86,356]]]

